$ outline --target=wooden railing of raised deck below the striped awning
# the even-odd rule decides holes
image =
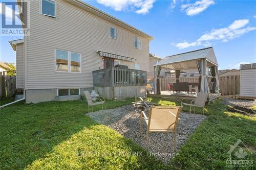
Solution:
[[[110,67],[93,71],[93,85],[100,87],[146,86],[146,71]]]

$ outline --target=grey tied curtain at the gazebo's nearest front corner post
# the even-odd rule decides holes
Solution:
[[[197,61],[197,67],[200,74],[200,92],[210,93],[207,78],[206,78],[206,69],[207,69],[207,61],[205,59],[200,59]]]

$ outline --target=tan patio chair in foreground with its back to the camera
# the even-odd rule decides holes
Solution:
[[[147,149],[149,133],[172,132],[174,133],[174,149],[176,151],[176,129],[182,106],[152,106],[150,116],[147,118],[144,111],[140,114],[140,136],[143,118],[147,125]]]

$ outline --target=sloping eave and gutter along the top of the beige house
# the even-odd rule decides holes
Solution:
[[[140,31],[138,29],[136,29],[135,27],[133,27],[133,26],[131,26],[131,25],[121,21],[120,19],[117,19],[114,16],[111,16],[111,15],[109,15],[109,14],[107,14],[107,13],[105,13],[105,12],[103,12],[103,11],[101,11],[101,10],[99,10],[99,9],[89,5],[89,4],[87,4],[87,3],[84,3],[81,0],[74,0],[74,1],[66,0],[66,1],[68,3],[70,3],[70,4],[73,4],[73,5],[77,6],[77,7],[82,8],[83,10],[86,10],[86,11],[88,11],[88,12],[94,14],[94,15],[97,15],[97,16],[105,19],[105,20],[108,20],[108,21],[110,21],[112,23],[115,23],[116,25],[118,25],[120,27],[123,27],[123,28],[125,28],[127,30],[130,30],[131,32],[134,32],[134,33],[136,33],[136,34],[138,34],[138,35],[140,35],[142,37],[145,37],[145,38],[150,39],[150,40],[154,39],[154,37],[152,37],[152,36],[142,32],[142,31]]]

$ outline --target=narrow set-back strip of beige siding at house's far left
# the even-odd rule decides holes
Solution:
[[[16,88],[24,88],[24,46],[16,45]]]

